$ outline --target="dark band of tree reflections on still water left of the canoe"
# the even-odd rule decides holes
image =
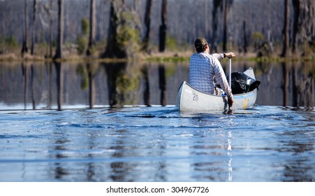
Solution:
[[[57,107],[57,110],[75,104],[87,104],[90,109],[95,104],[151,106],[166,105],[167,101],[173,104],[177,83],[182,80],[175,73],[176,67],[174,64],[138,62],[23,62],[13,66],[14,72],[10,73],[6,66],[0,66],[1,71],[8,74],[7,78],[18,78],[1,80],[1,99],[5,104],[24,104],[24,109],[32,104],[31,109]],[[167,85],[169,81],[176,86]],[[12,96],[14,99],[10,98]]]

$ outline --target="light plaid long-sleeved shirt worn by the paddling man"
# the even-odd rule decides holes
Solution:
[[[214,79],[221,85],[222,90],[228,97],[233,94],[228,86],[226,74],[222,69],[219,59],[224,58],[224,54],[208,54],[207,52],[197,52],[191,55],[189,65],[189,84],[198,90],[214,94]]]

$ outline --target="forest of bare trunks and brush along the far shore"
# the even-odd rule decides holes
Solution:
[[[193,51],[314,56],[313,0],[1,0],[2,57],[133,58]]]

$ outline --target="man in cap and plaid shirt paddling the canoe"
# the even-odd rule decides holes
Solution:
[[[222,69],[219,59],[224,57],[235,57],[233,52],[210,55],[210,45],[205,38],[198,37],[195,41],[196,53],[191,55],[189,64],[189,84],[198,90],[210,94],[221,95],[221,91],[216,89],[214,79],[221,86],[228,96],[228,106],[233,106],[233,94],[226,74]]]

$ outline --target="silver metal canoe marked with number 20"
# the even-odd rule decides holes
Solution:
[[[253,69],[247,69],[244,73],[255,79]],[[232,109],[250,109],[254,106],[257,97],[257,89],[242,94],[233,94],[234,104]],[[224,111],[228,109],[226,96],[208,94],[196,90],[186,81],[182,83],[177,92],[176,107],[180,111]]]

